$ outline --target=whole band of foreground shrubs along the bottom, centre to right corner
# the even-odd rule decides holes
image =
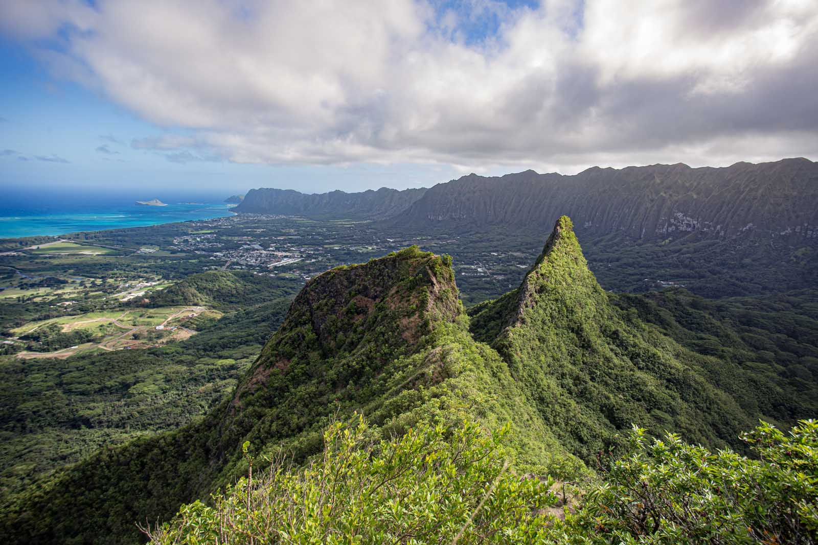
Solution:
[[[183,505],[173,521],[146,529],[151,543],[818,541],[814,421],[789,436],[769,425],[745,434],[757,458],[713,454],[670,433],[649,441],[636,428],[574,505],[553,480],[515,471],[503,430],[421,425],[378,442],[366,422],[353,423],[330,426],[306,469],[276,458],[250,467],[210,506]]]

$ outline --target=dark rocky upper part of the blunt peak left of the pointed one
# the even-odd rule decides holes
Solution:
[[[451,257],[416,246],[308,281],[250,373],[346,356],[379,365],[414,351],[442,321],[461,313]],[[252,388],[251,388],[252,389]]]

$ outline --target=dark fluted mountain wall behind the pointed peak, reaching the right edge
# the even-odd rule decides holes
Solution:
[[[667,239],[699,231],[729,238],[753,232],[818,244],[818,163],[595,167],[575,176],[470,174],[435,185],[389,223],[544,230],[561,214],[572,217],[582,235]]]

